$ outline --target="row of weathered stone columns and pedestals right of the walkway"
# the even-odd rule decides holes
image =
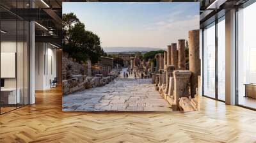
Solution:
[[[173,110],[182,112],[200,109],[199,30],[188,32],[188,42],[189,70],[186,70],[185,40],[178,40],[178,50],[177,43],[172,43],[164,54],[156,54],[156,70],[152,72],[152,83],[156,84],[156,90]]]

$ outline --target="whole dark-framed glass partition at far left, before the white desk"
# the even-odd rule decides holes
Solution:
[[[9,2],[0,4],[11,4],[13,8],[27,6],[25,1]],[[29,103],[29,22],[0,8],[0,30],[0,114],[3,114]]]

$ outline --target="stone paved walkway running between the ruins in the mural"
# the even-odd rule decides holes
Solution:
[[[172,111],[151,79],[124,79],[123,69],[113,82],[63,96],[64,111]]]

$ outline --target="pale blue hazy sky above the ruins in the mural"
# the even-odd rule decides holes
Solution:
[[[166,48],[199,29],[199,3],[63,3],[63,13],[70,12],[102,47]]]

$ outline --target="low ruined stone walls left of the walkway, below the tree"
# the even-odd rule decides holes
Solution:
[[[77,63],[63,55],[62,63],[63,95],[104,86],[118,77],[118,70],[113,69],[113,62],[108,57],[101,57],[101,61],[92,66],[91,61]]]

